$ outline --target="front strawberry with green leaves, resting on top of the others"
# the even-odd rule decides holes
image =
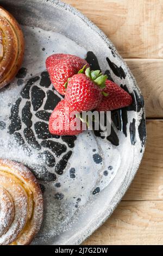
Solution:
[[[102,100],[102,88],[105,87],[106,75],[100,70],[80,70],[67,83],[65,94],[66,105],[71,109],[82,112],[95,109]]]

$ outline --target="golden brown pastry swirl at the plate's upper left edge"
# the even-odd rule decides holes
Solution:
[[[16,76],[24,54],[24,38],[15,18],[0,7],[0,88]]]

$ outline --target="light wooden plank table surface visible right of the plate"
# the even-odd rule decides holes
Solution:
[[[84,245],[163,244],[163,0],[64,0],[114,42],[145,97],[147,146],[114,214]]]

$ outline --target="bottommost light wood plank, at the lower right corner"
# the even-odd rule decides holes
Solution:
[[[162,201],[121,202],[84,245],[162,245]]]

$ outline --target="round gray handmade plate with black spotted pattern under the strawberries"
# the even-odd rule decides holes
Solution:
[[[45,214],[36,245],[77,245],[108,218],[126,193],[143,156],[143,97],[116,48],[76,9],[60,1],[1,0],[20,22],[26,39],[23,68],[0,92],[0,157],[28,166],[41,184]],[[86,57],[133,96],[112,111],[110,136],[86,131],[59,137],[48,119],[61,96],[45,68],[57,52]]]

